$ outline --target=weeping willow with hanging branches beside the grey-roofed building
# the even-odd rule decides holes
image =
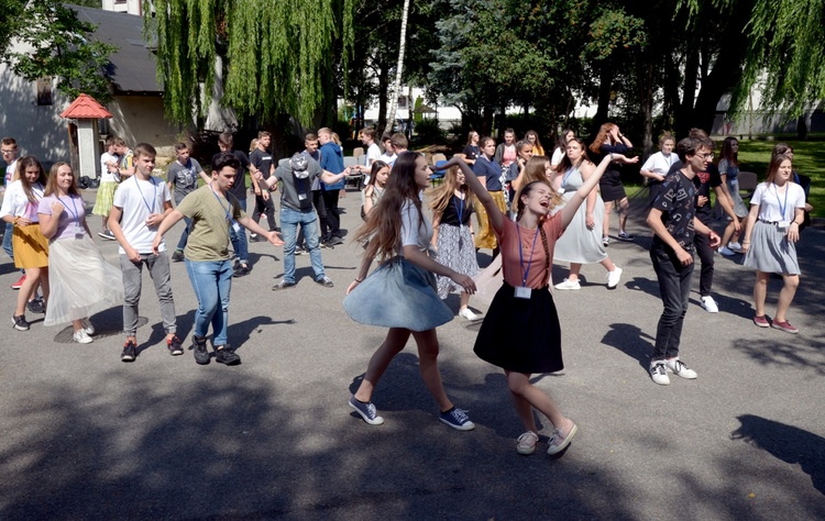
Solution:
[[[355,0],[148,0],[144,30],[156,40],[157,76],[175,122],[220,100],[240,115],[309,125],[332,100],[337,59],[346,67]],[[221,91],[218,89],[217,91]]]

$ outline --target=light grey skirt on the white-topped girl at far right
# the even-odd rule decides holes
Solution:
[[[796,245],[779,225],[757,221],[750,233],[750,247],[743,263],[749,268],[769,274],[800,275]]]

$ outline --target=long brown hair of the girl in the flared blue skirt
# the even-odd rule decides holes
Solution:
[[[355,234],[355,241],[366,243],[364,255],[386,260],[397,254],[402,243],[402,208],[409,202],[418,210],[419,224],[424,222],[420,188],[416,184],[416,159],[424,157],[416,152],[398,155],[389,171],[384,195],[366,215],[366,223]]]

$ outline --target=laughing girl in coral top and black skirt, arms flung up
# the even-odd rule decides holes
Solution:
[[[518,195],[516,222],[498,210],[466,163],[453,158],[446,165],[458,165],[464,171],[470,189],[487,210],[502,247],[504,285],[490,306],[474,351],[480,358],[504,369],[516,412],[527,429],[518,437],[519,454],[532,454],[539,440],[532,408],[553,424],[548,454],[563,451],[578,430],[543,390],[530,384],[530,375],[564,367],[559,315],[548,291],[553,247],[612,160],[626,158],[620,154],[605,156],[573,198],[552,217],[550,211],[559,198],[550,185],[544,181],[526,185]]]

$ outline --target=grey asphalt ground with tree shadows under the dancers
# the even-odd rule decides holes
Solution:
[[[354,230],[358,193],[342,204]],[[98,244],[117,260],[114,243]],[[608,248],[625,269],[618,289],[585,266],[588,284],[557,291],[566,367],[536,381],[580,426],[557,458],[543,453],[547,423],[540,451],[516,454],[521,429],[503,375],[473,355],[479,324],[460,319],[439,329],[440,361],[474,431],[438,421],[411,344],[375,395],[386,423],[354,415],[346,399],[384,331],[341,307],[358,264],[351,244],[323,251],[334,288],[316,285],[298,257],[297,288],[277,293],[280,252],[251,245],[254,269],[232,286],[238,367],[169,356],[148,281],[133,364],[119,357],[120,309],[92,319],[100,334],[89,345],[40,321],[14,331],[16,274],[3,264],[0,519],[825,519],[825,232],[800,243],[795,336],[750,322],[752,273],[717,257],[722,312],[706,313],[694,293],[683,334],[700,377],[669,387],[646,370],[661,312],[646,245]],[[563,274],[557,266],[554,278]],[[188,345],[196,302],[183,264],[173,284]]]

